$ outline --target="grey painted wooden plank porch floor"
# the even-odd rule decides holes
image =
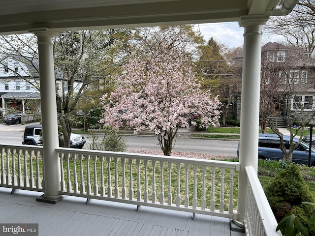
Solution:
[[[0,223],[38,223],[39,236],[244,236],[230,220],[191,213],[65,196],[37,202],[40,192],[0,187]]]

